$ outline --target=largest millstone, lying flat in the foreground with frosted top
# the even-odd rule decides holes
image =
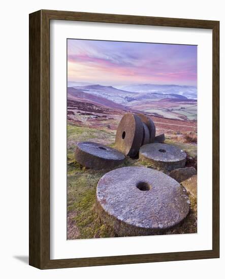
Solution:
[[[164,234],[189,212],[186,190],[161,171],[121,167],[97,186],[96,211],[118,236]]]

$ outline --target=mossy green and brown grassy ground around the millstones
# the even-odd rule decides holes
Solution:
[[[156,124],[157,125],[157,124]],[[98,128],[97,128],[98,127]],[[93,141],[114,146],[116,130],[106,126],[76,126],[68,122],[68,239],[115,237],[112,228],[102,224],[95,213],[95,191],[100,178],[109,170],[85,169],[74,160],[74,149],[77,142]],[[156,126],[157,127],[157,126]],[[187,153],[186,166],[195,166],[197,162],[196,143],[177,141],[166,136],[166,143],[174,144]],[[145,166],[138,158],[126,158],[121,166]],[[189,194],[191,210],[187,218],[168,234],[197,232],[197,197]]]

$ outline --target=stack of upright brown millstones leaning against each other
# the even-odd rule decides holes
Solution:
[[[116,149],[126,156],[135,157],[141,146],[154,143],[154,141],[155,125],[149,117],[132,113],[126,113],[122,117],[116,131]]]

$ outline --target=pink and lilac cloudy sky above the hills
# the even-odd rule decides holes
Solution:
[[[68,39],[68,81],[197,86],[197,46]]]

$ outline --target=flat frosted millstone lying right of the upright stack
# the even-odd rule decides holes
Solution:
[[[168,144],[148,144],[140,148],[139,158],[150,165],[165,170],[185,166],[186,153]]]

